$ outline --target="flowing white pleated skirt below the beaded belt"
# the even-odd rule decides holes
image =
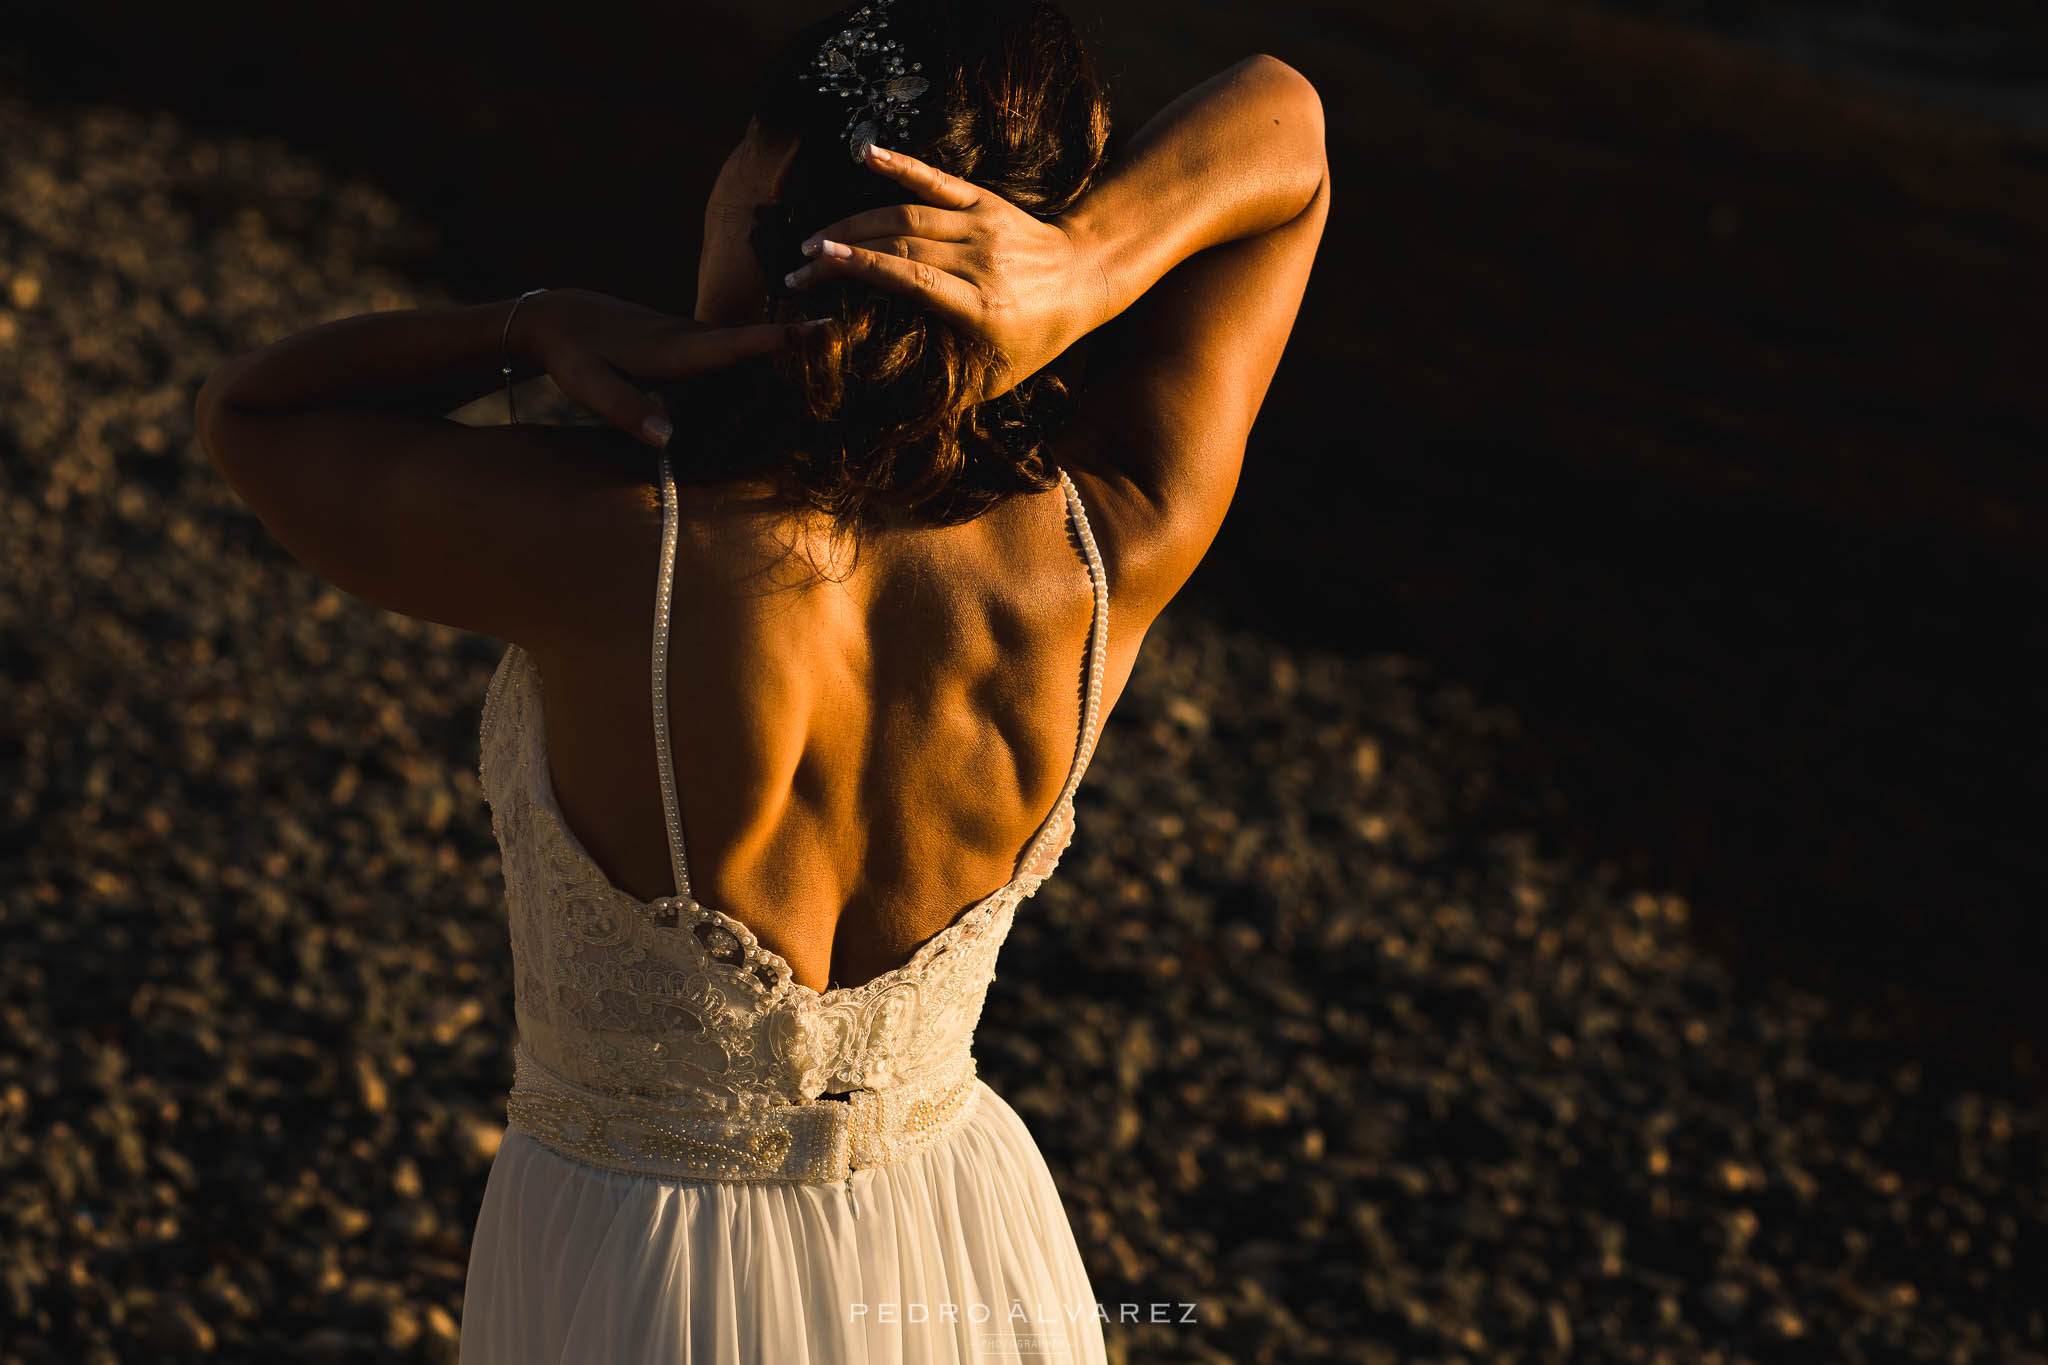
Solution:
[[[1059,1189],[975,1083],[938,1146],[846,1183],[670,1181],[508,1132],[477,1214],[461,1365],[1106,1361]]]

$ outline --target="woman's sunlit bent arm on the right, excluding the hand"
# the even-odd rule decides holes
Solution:
[[[1057,458],[1094,479],[1126,620],[1163,610],[1223,528],[1327,217],[1323,102],[1266,55],[1174,100],[1075,207],[1110,321]]]

